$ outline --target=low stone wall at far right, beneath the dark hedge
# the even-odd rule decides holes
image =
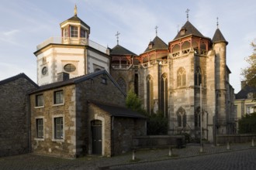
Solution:
[[[245,143],[251,142],[252,138],[256,140],[256,134],[218,134],[216,143],[227,144],[228,141],[231,143]]]

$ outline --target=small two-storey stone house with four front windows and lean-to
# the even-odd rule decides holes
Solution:
[[[133,135],[146,134],[144,117],[125,108],[126,94],[106,70],[66,74],[30,93],[33,153],[111,156],[129,151]]]

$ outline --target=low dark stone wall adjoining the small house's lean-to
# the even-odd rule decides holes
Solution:
[[[184,135],[150,135],[133,138],[133,148],[161,148],[167,146],[182,148],[185,146]]]

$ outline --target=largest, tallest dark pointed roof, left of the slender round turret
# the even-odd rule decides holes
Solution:
[[[182,30],[185,30],[185,34],[183,35],[180,33]],[[202,36],[202,33],[199,32],[199,30],[197,30],[195,26],[192,25],[192,23],[187,21],[185,22],[185,25],[182,26],[182,29],[178,32],[177,36],[175,36],[175,39],[180,39],[182,37],[189,36],[189,35],[205,37],[205,36]]]

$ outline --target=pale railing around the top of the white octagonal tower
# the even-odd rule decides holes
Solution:
[[[51,43],[90,46],[93,49],[97,49],[102,53],[107,53],[107,48],[105,46],[102,46],[99,43],[93,42],[90,39],[77,38],[77,37],[50,37],[50,39],[47,39],[44,42],[40,43],[40,45],[36,46],[36,50],[42,49],[44,46],[47,46]]]

